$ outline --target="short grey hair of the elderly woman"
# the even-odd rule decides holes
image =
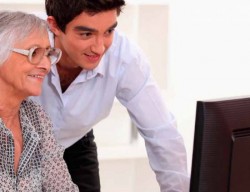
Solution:
[[[15,43],[28,37],[31,33],[45,33],[46,21],[39,17],[20,11],[0,11],[0,65],[10,55]]]

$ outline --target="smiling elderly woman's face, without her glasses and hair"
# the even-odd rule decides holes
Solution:
[[[14,44],[13,48],[30,49],[32,47],[50,47],[48,34],[34,31],[27,38]],[[42,57],[36,65],[31,64],[26,55],[11,52],[8,60],[0,66],[1,91],[8,96],[24,99],[41,93],[42,82],[51,67],[48,57]]]

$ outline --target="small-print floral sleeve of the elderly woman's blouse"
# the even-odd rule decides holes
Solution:
[[[38,112],[43,127],[42,144],[42,183],[43,191],[77,192],[78,187],[72,182],[67,165],[63,159],[64,149],[53,137],[52,123],[42,108]]]

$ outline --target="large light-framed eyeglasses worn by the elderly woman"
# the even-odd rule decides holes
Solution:
[[[17,49],[13,48],[11,51],[15,53],[19,53],[22,55],[26,55],[31,64],[37,65],[43,58],[43,56],[47,56],[50,59],[51,65],[56,64],[61,56],[62,51],[58,48],[41,48],[41,47],[32,47],[30,49]]]

